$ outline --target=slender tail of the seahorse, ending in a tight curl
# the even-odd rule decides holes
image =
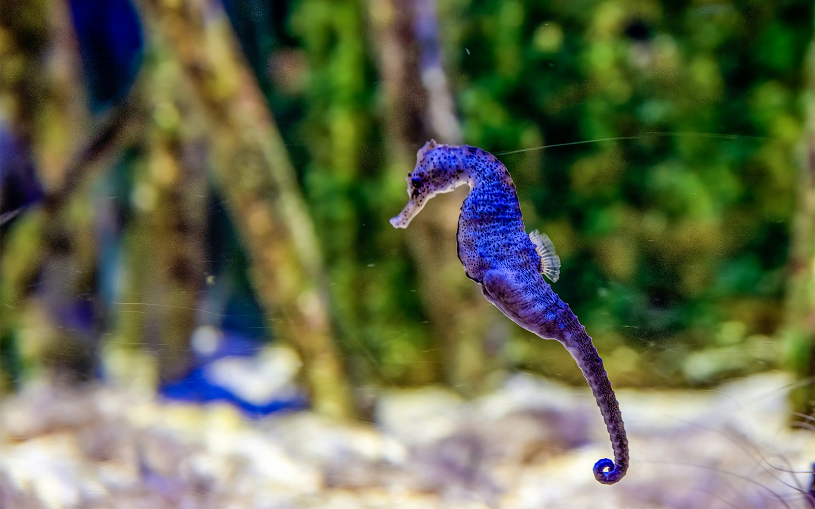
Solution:
[[[597,400],[597,406],[600,407],[600,413],[606,421],[611,447],[614,450],[614,461],[606,458],[594,463],[594,477],[604,485],[613,485],[622,479],[628,470],[628,437],[625,434],[623,415],[620,414],[614,389],[611,388],[608,374],[597,354],[597,349],[594,348],[592,338],[586,334],[584,327],[577,323],[576,318],[575,323],[570,325],[572,327],[568,329],[571,331],[562,342],[575,358],[580,371],[588,381],[588,386],[592,388],[594,399]]]

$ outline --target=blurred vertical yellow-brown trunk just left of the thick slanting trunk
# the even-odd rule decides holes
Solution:
[[[205,281],[205,219],[207,173],[200,115],[185,91],[180,66],[170,51],[157,50],[143,72],[142,94],[152,109],[152,122],[144,140],[146,165],[137,188],[151,190],[143,200],[137,228],[156,246],[149,267],[149,286],[131,280],[147,302],[161,308],[145,309],[145,340],[156,350],[161,379],[178,380],[190,368],[190,338],[197,323]],[[130,253],[131,270],[143,270]],[[160,309],[160,313],[156,313]]]

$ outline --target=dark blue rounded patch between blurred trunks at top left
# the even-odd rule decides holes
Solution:
[[[130,0],[68,0],[90,109],[101,112],[133,85],[144,55],[139,13]]]

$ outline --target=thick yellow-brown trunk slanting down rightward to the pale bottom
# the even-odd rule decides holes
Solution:
[[[253,261],[275,332],[302,356],[316,410],[352,414],[322,283],[319,244],[280,133],[222,9],[192,0],[144,2],[205,119],[211,164]]]

